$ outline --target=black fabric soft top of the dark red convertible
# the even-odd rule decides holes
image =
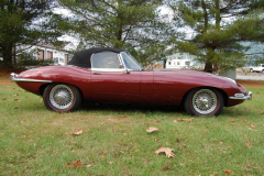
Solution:
[[[67,65],[74,65],[82,68],[90,68],[90,57],[95,53],[100,52],[114,52],[114,53],[121,53],[124,52],[120,48],[112,48],[112,47],[92,47],[86,51],[77,52],[74,57],[67,63]]]

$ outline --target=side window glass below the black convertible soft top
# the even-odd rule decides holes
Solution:
[[[91,57],[92,68],[120,68],[120,59],[117,53],[96,53]]]

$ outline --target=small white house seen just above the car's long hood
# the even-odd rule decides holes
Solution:
[[[167,57],[166,68],[190,68],[194,66],[194,55],[177,53]]]

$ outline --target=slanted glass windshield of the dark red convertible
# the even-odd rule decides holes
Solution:
[[[139,62],[136,62],[136,59],[134,59],[134,57],[132,55],[130,55],[129,53],[122,52],[121,55],[122,55],[124,65],[128,69],[132,69],[132,70],[144,69],[144,67],[141,66],[141,64]]]

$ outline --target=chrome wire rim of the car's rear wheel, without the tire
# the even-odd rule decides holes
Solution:
[[[66,85],[56,85],[51,89],[48,99],[54,108],[65,110],[73,106],[75,94],[72,88]]]

